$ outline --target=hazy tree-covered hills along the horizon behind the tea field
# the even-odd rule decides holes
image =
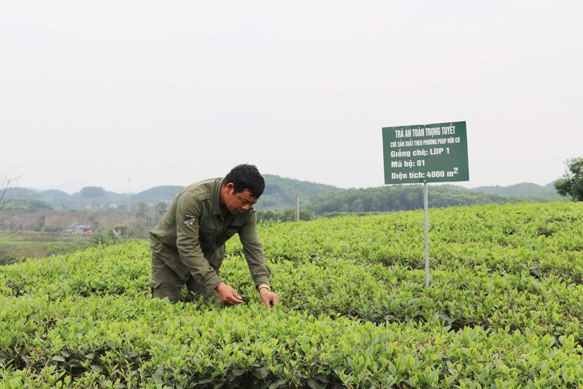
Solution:
[[[341,189],[316,182],[264,175],[266,188],[257,209],[278,210],[295,207],[300,196],[300,207],[309,209],[314,216],[345,212],[383,212],[423,207],[423,185],[390,185],[362,189]],[[182,186],[163,185],[136,194],[107,192],[101,187],[84,187],[80,192],[68,194],[61,190],[30,190],[8,188],[6,206],[9,209],[38,211],[40,209],[75,210],[86,207],[122,207],[131,202],[144,202],[155,206],[158,202],[170,202],[182,190]],[[14,202],[10,204],[10,202]],[[532,183],[508,187],[477,187],[465,189],[456,185],[430,185],[430,207],[488,204],[503,202],[566,201],[554,190],[553,185]]]

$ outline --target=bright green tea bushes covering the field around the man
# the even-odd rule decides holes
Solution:
[[[146,241],[0,267],[0,388],[581,388],[583,203],[261,225],[226,307],[153,300]]]

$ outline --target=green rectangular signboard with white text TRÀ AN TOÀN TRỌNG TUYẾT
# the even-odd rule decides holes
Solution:
[[[466,122],[383,127],[384,183],[468,181]]]

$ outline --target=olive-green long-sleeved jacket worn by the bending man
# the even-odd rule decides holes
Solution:
[[[206,289],[215,289],[222,282],[215,269],[225,257],[225,242],[238,233],[255,286],[269,285],[271,269],[257,236],[257,213],[251,207],[223,220],[219,203],[222,184],[223,178],[213,178],[185,187],[150,234],[177,250],[182,263],[173,263],[173,269],[190,272]]]

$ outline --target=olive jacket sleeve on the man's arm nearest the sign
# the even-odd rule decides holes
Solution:
[[[239,230],[239,238],[255,286],[261,284],[269,285],[271,269],[266,264],[264,247],[257,235],[257,213],[255,211],[249,215],[249,219]]]

